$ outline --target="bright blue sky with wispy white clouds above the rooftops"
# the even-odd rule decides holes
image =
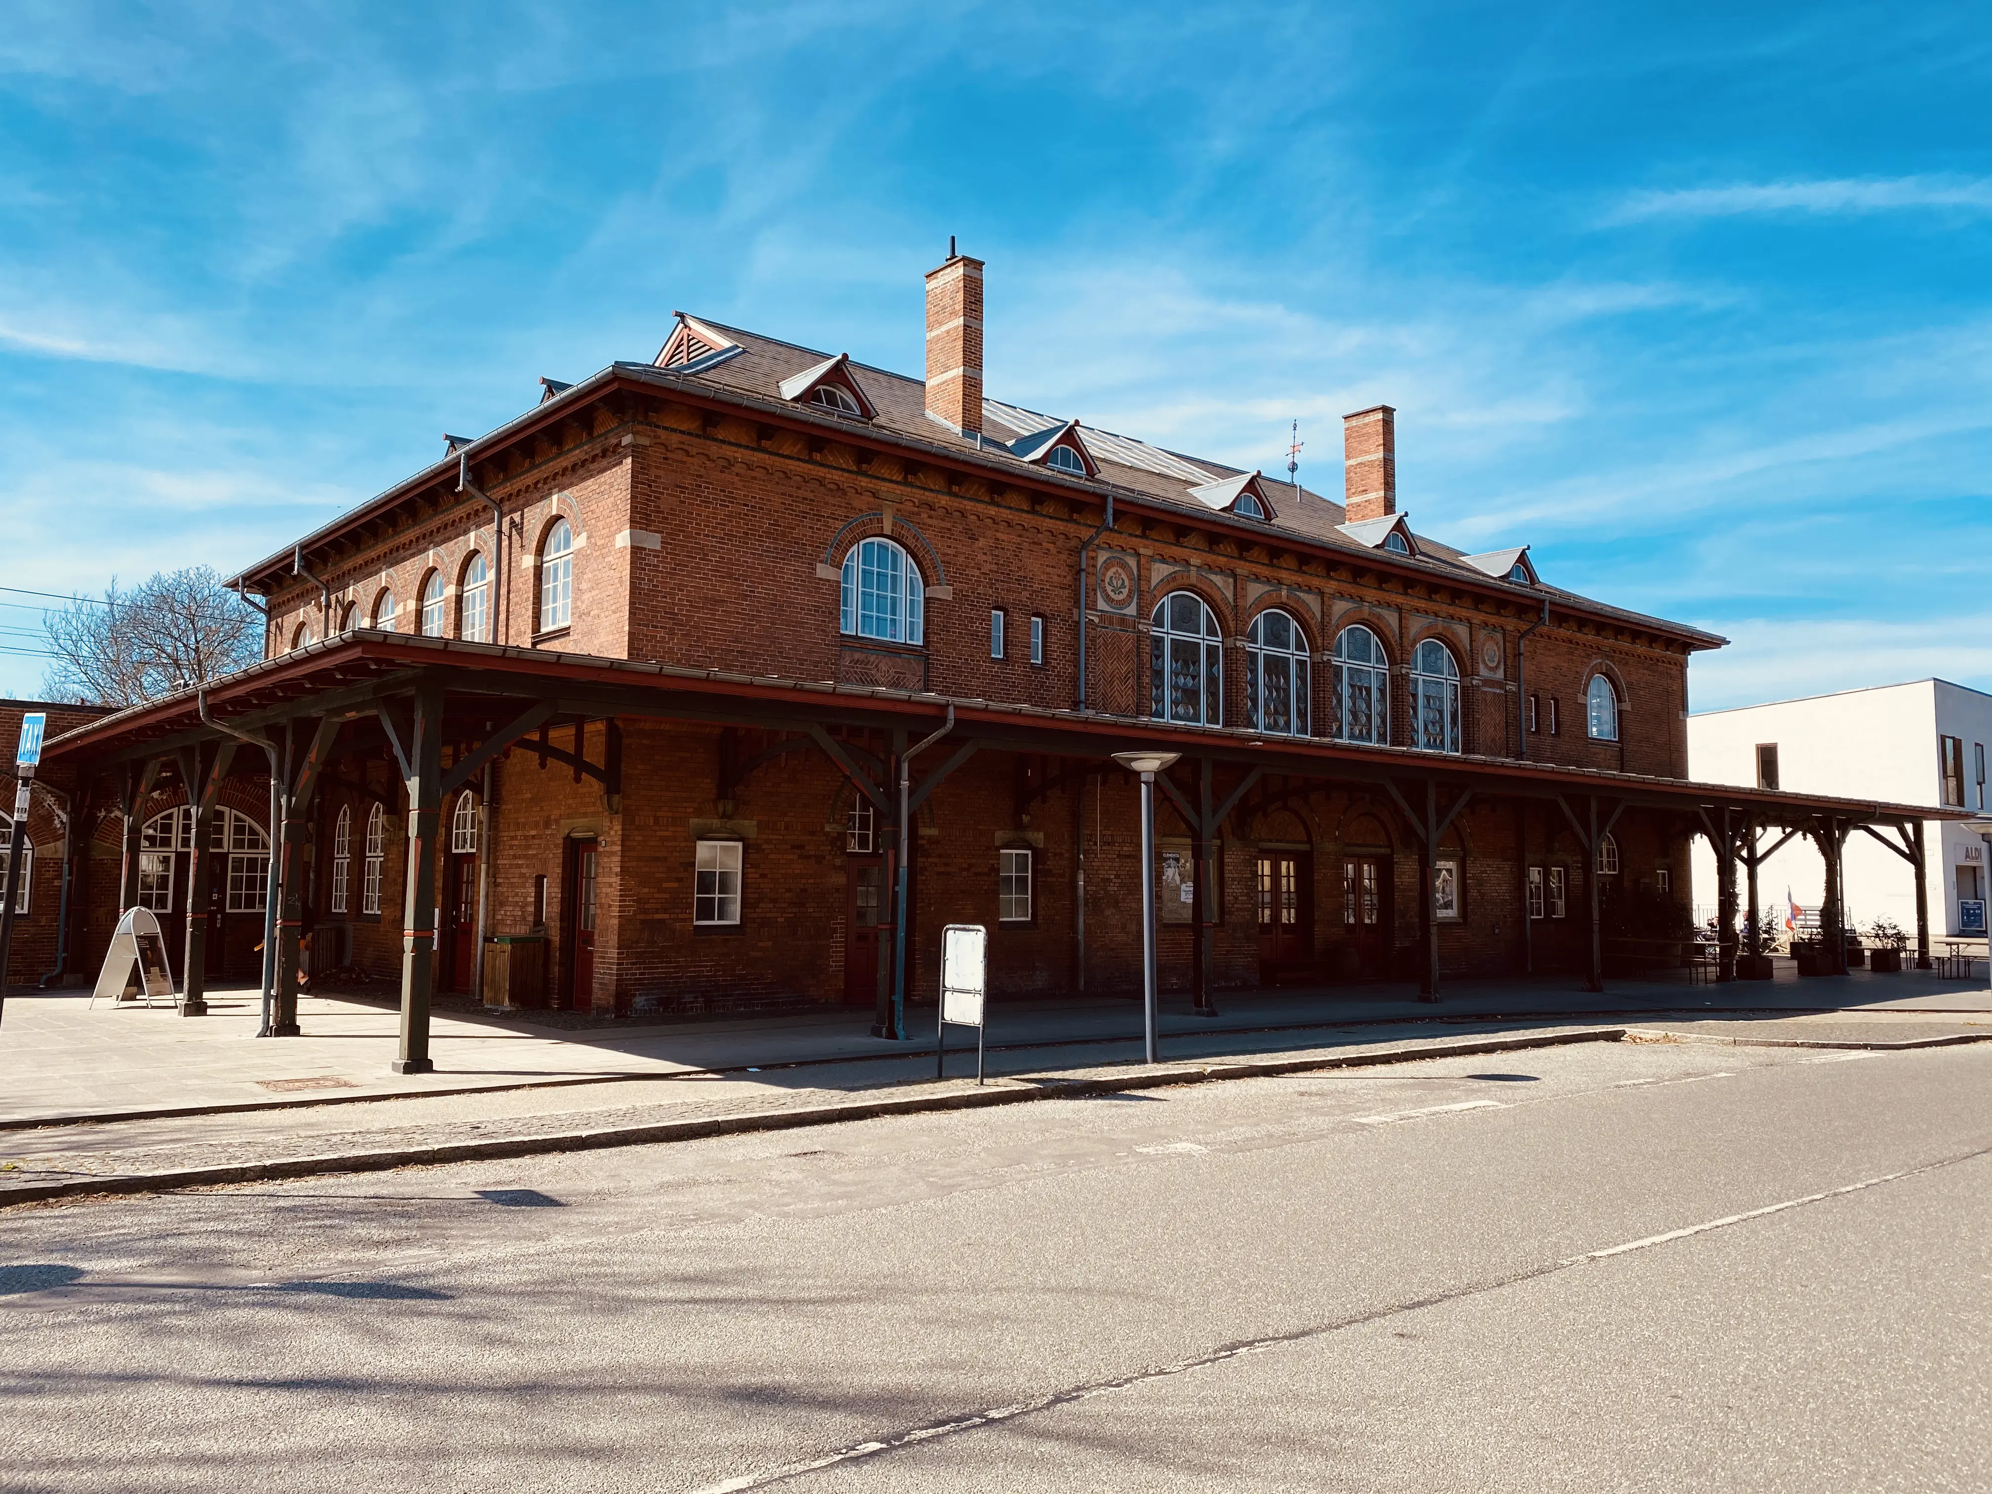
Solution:
[[[247,564],[677,307],[918,373],[954,233],[998,398],[1329,492],[1390,402],[1418,530],[1735,639],[1697,709],[1992,687],[1982,20],[12,0],[0,586]]]

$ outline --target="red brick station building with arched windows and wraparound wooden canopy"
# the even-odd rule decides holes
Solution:
[[[56,707],[12,978],[94,978],[143,904],[199,1012],[259,976],[275,886],[275,1032],[309,926],[317,970],[400,980],[406,1070],[434,990],[898,1036],[900,922],[906,1004],[950,922],[988,926],[998,998],[1133,994],[1131,749],[1179,753],[1159,970],[1205,1010],[1600,988],[1677,958],[1695,835],[1727,978],[1753,849],[1920,861],[1928,809],[1687,783],[1723,639],[1414,530],[1390,406],[1347,416],[1337,502],[988,398],[982,271],[926,277],[924,380],[679,313],[243,570],[263,663]]]

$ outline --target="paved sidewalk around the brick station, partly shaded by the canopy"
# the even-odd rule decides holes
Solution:
[[[1779,1014],[1805,1010],[1992,1014],[1992,992],[1974,982],[1904,972],[1687,986],[1612,982],[1604,996],[1568,978],[1458,982],[1438,1006],[1408,986],[1271,990],[1223,996],[1213,1022],[1191,1016],[1185,998],[1163,1002],[1165,1058],[1219,1056],[1353,1038],[1355,1028],[1460,1024],[1616,1022],[1651,1014]],[[34,992],[8,998],[0,1024],[0,1127],[68,1120],[187,1114],[241,1108],[315,1108],[388,1096],[448,1096],[480,1090],[677,1080],[695,1072],[771,1070],[787,1064],[863,1060],[872,1082],[918,1078],[932,1064],[932,1008],[914,1008],[912,1044],[869,1034],[869,1012],[616,1024],[560,1030],[530,1014],[488,1018],[438,1012],[434,1074],[396,1076],[396,1012],[384,1002],[305,996],[303,1038],[255,1038],[257,994],[211,994],[213,1012],[183,1018],[171,1008],[90,1008],[88,994]],[[1440,1028],[1440,1030],[1444,1030]],[[1141,1012],[1129,1000],[996,1002],[994,1052],[1042,1050],[1032,1064],[1100,1064],[1139,1058]],[[954,1030],[950,1046],[972,1044]],[[1070,1052],[1056,1052],[1070,1050]],[[1014,1068],[1014,1064],[1002,1064]]]

